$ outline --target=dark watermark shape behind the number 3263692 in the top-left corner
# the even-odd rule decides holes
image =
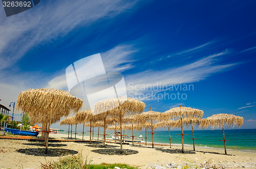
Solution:
[[[40,0],[2,0],[6,16],[16,15],[36,6]]]

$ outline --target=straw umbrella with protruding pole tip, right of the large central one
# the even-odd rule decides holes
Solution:
[[[150,111],[142,112],[142,114],[137,115],[136,121],[151,121],[151,133],[152,133],[152,148],[154,148],[154,141],[153,141],[153,134],[156,134],[153,132],[153,121],[159,120],[161,118],[161,112],[158,111],[152,111],[152,108],[150,107]]]

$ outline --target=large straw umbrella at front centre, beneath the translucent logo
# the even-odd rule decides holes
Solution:
[[[94,115],[106,118],[106,114],[119,118],[120,128],[120,153],[122,153],[122,118],[128,115],[140,114],[145,108],[145,103],[133,98],[112,98],[99,101],[94,106]],[[104,130],[105,131],[105,130]],[[105,133],[104,133],[105,134]],[[104,135],[105,139],[105,135]]]

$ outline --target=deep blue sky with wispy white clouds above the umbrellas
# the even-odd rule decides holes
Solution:
[[[106,72],[123,74],[127,96],[145,102],[145,110],[183,105],[204,110],[203,118],[242,116],[241,128],[256,128],[255,6],[255,1],[41,1],[10,17],[0,7],[0,103],[8,106],[30,88],[68,90],[66,68],[101,53]],[[146,85],[193,85],[193,90],[142,90]],[[161,99],[177,92],[186,99]],[[146,94],[158,98],[139,98]]]

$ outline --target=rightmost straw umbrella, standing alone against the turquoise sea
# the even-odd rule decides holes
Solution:
[[[227,154],[226,150],[226,141],[225,140],[225,134],[224,134],[224,125],[228,127],[241,127],[244,122],[244,118],[240,116],[235,116],[232,114],[217,114],[212,115],[211,117],[208,117],[206,119],[202,119],[200,127],[207,128],[209,125],[212,129],[218,129],[222,127],[222,133],[223,133],[223,141],[224,142],[224,148],[225,148],[225,154]]]

